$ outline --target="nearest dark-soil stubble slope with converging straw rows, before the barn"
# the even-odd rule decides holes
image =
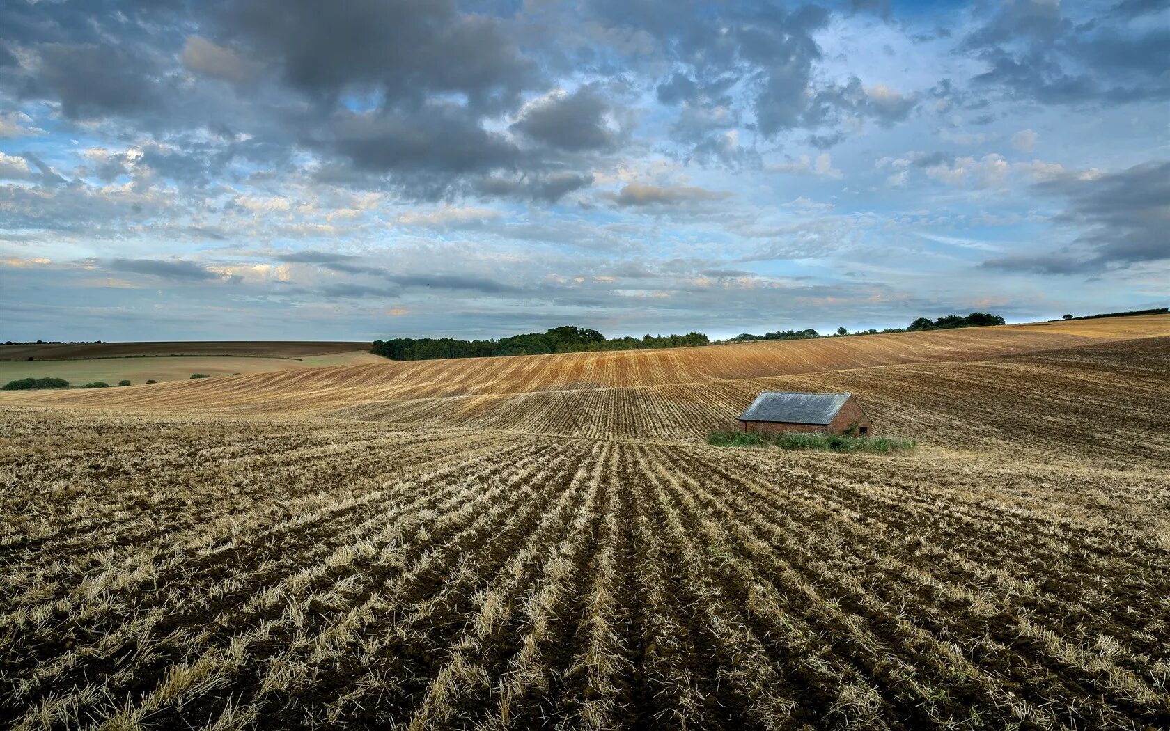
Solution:
[[[1170,475],[1030,460],[8,407],[0,718],[1170,726]]]

